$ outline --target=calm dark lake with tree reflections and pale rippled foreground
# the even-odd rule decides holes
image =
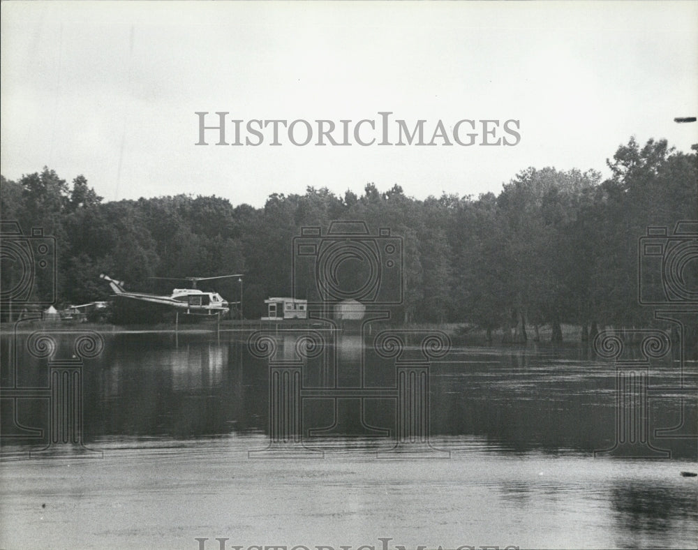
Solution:
[[[697,365],[675,342],[20,329],[2,548],[697,545]]]

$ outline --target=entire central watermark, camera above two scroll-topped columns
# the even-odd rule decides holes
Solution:
[[[249,456],[324,456],[335,443],[385,458],[450,456],[429,442],[429,371],[450,349],[448,336],[373,336],[389,306],[404,302],[403,248],[390,228],[372,234],[355,220],[332,221],[326,233],[304,227],[292,239],[293,298],[306,299],[308,318],[325,328],[276,327],[248,339],[269,365],[270,438]]]

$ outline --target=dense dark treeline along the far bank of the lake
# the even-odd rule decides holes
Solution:
[[[695,146],[685,154],[666,140],[631,139],[607,163],[605,181],[593,170],[528,168],[498,195],[478,198],[415,200],[398,185],[381,192],[368,184],[361,196],[274,194],[260,209],[215,196],[103,202],[84,177],[68,184],[44,168],[2,178],[1,216],[57,239],[59,306],[106,299],[100,273],[163,293],[172,281],[152,277],[244,273],[244,315],[259,318],[265,298],[291,293],[292,238],[302,226],[362,220],[373,234],[388,227],[403,237],[404,302],[395,318],[503,327],[519,341],[550,324],[561,339],[561,323],[588,331],[649,322],[637,300],[638,239],[648,225],[671,235],[676,221],[697,218]],[[696,263],[685,277],[698,280]],[[3,269],[6,288],[13,276]],[[237,280],[215,288],[239,299]]]

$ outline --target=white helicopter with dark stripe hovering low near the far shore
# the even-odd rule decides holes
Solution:
[[[192,288],[174,288],[172,295],[155,295],[144,294],[142,292],[128,292],[124,289],[124,281],[117,281],[108,275],[100,274],[99,278],[107,281],[114,291],[114,295],[121,298],[131,298],[140,300],[141,302],[150,302],[151,304],[162,304],[171,306],[178,312],[188,313],[189,315],[225,315],[230,311],[232,304],[239,302],[227,302],[218,292],[202,292],[196,288],[198,281],[210,281],[216,278],[238,277],[242,281],[242,274],[235,275],[219,275],[215,277],[152,277],[163,278],[170,280],[186,280],[190,281]]]

